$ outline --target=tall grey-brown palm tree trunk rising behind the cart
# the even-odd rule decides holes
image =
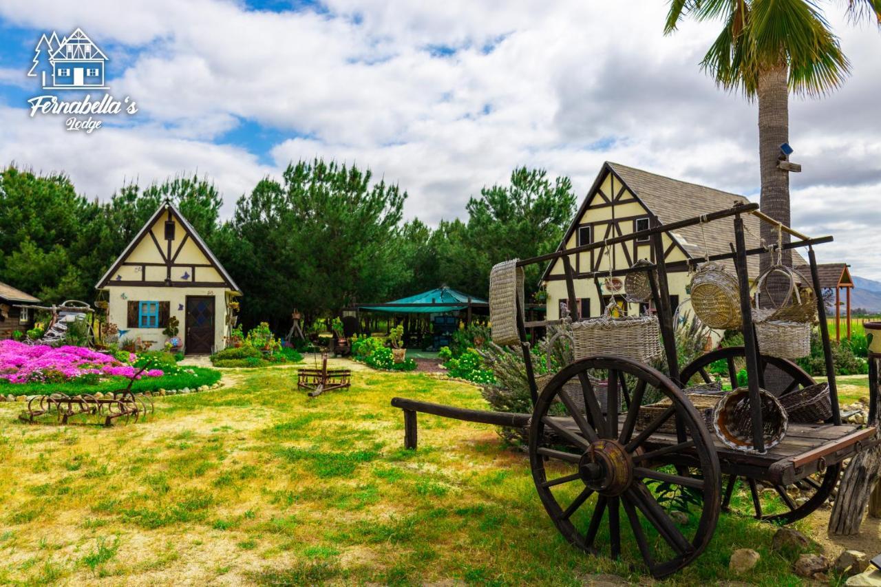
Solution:
[[[761,202],[762,212],[771,218],[789,226],[789,174],[777,167],[780,145],[789,142],[789,89],[788,67],[785,63],[763,71],[759,76],[759,161],[761,170]],[[766,243],[777,242],[777,231],[774,227],[761,223],[761,237]],[[789,241],[789,235],[783,234],[783,241]],[[761,269],[772,264],[771,255],[761,257]],[[792,266],[792,254],[787,251],[783,255],[783,264]],[[788,284],[769,284],[770,294],[774,300],[780,301],[786,291],[780,291]],[[775,287],[776,286],[776,287]],[[776,295],[775,295],[776,294]],[[766,296],[767,298],[767,296]]]

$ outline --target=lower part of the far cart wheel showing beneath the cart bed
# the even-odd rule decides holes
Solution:
[[[755,479],[729,475],[725,482],[725,493],[722,495],[722,510],[730,511],[731,498],[737,486],[737,479],[740,479],[741,488],[749,494],[752,513],[757,520],[774,524],[792,524],[804,516],[810,516],[829,499],[840,472],[841,464],[833,464],[824,472],[800,479],[791,485],[771,486],[770,489],[773,491],[768,491],[768,488],[759,491]],[[789,494],[794,488],[799,494],[796,498]],[[807,501],[799,503],[800,498]]]

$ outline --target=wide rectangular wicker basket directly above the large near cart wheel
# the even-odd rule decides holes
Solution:
[[[600,316],[572,324],[575,360],[615,355],[648,363],[661,354],[657,316]]]

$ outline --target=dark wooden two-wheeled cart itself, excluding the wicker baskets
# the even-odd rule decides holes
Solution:
[[[751,318],[746,260],[767,249],[746,249],[743,219],[745,214],[755,213],[763,221],[772,221],[758,208],[758,204],[739,204],[667,225],[653,218],[646,230],[520,261],[518,264],[523,266],[560,259],[565,271],[568,308],[575,309],[578,308],[574,293],[576,276],[570,256],[634,239],[649,239],[654,250],[653,264],[611,273],[620,277],[632,271],[648,272],[666,364],[672,366],[669,372],[661,373],[646,364],[614,355],[589,356],[561,369],[539,394],[529,345],[525,342],[527,324],[519,319],[533,411],[528,414],[481,412],[394,398],[392,405],[403,410],[405,445],[411,449],[417,446],[418,412],[498,426],[528,427],[529,464],[535,487],[559,532],[574,546],[591,554],[618,558],[624,553],[641,557],[655,577],[676,572],[703,552],[713,536],[720,512],[729,507],[738,479],[743,479],[749,487],[755,515],[760,519],[789,523],[810,514],[832,492],[841,462],[875,442],[875,428],[841,423],[825,308],[818,294],[819,330],[833,416],[823,423],[790,423],[782,442],[765,450],[759,394],[766,365],[773,365],[788,377],[786,390],[801,389],[814,382],[795,363],[762,355],[758,347]],[[667,282],[667,271],[674,264],[664,261],[662,235],[700,222],[730,217],[734,224],[732,252],[708,259],[734,261],[744,322],[744,346],[707,353],[680,373]],[[784,249],[808,249],[812,286],[815,292],[820,292],[813,247],[832,241],[832,237],[812,239],[787,227],[782,229],[797,237],[796,241],[783,244]],[[681,262],[690,263],[694,262]],[[599,287],[597,278],[609,273],[581,274],[578,279],[594,279]],[[735,365],[745,362],[755,448],[751,452],[732,450],[723,444],[707,430],[699,412],[685,397],[685,386],[709,381],[707,368],[718,360],[729,366],[732,389],[738,387]],[[591,383],[597,376],[607,382],[606,412],[601,409]],[[573,383],[576,389],[580,386],[583,394],[583,411],[564,390],[567,384],[571,390]],[[875,405],[875,390],[870,393],[871,405]],[[653,420],[638,424],[640,407],[647,403],[648,397],[659,396],[666,398],[669,407]],[[669,422],[675,423],[675,427]],[[763,491],[759,491],[759,484],[764,487]],[[797,500],[789,495],[794,488],[799,491]],[[668,498],[684,494],[692,498],[694,505],[685,516],[674,515],[668,507]],[[771,495],[777,501],[774,509],[767,504]],[[780,503],[782,509],[778,507]],[[622,510],[626,518],[623,522]]]

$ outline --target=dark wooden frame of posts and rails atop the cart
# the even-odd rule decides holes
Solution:
[[[769,246],[763,246],[756,249],[747,249],[746,242],[744,237],[744,219],[743,215],[747,213],[752,213],[756,215],[761,221],[774,225],[774,227],[779,227],[781,231],[786,232],[787,234],[791,234],[792,236],[798,239],[797,241],[791,241],[787,243],[779,243],[772,244]],[[712,256],[707,256],[704,259],[686,259],[685,261],[677,261],[668,264],[664,258],[665,249],[663,247],[663,234],[670,233],[671,231],[678,230],[680,228],[692,227],[695,225],[699,225],[702,223],[712,222],[718,219],[725,219],[734,217],[734,236],[735,242],[732,247],[730,253],[717,254]],[[626,243],[630,241],[634,241],[637,239],[650,241],[652,246],[655,263],[653,264],[640,264],[640,266],[634,266],[626,269],[607,269],[605,271],[592,271],[588,273],[581,273],[577,277],[574,274],[572,268],[572,261],[570,259],[571,256],[577,255],[579,253],[583,253],[590,250],[602,249],[605,247],[610,247],[620,243]],[[675,238],[672,235],[670,238]],[[670,222],[668,224],[662,224],[661,221],[654,215],[649,216],[649,227],[645,230],[634,231],[630,234],[623,234],[620,236],[603,239],[603,241],[591,242],[589,244],[584,244],[581,246],[573,247],[571,249],[559,249],[552,253],[548,253],[546,255],[534,256],[529,259],[522,259],[517,262],[518,267],[523,267],[530,264],[542,264],[549,261],[560,260],[563,264],[563,273],[564,278],[566,280],[566,298],[567,298],[567,307],[570,312],[570,316],[573,320],[578,320],[578,306],[576,304],[575,297],[575,279],[593,279],[594,284],[597,289],[597,293],[600,295],[600,300],[603,299],[601,286],[599,283],[599,277],[601,276],[612,276],[619,277],[623,275],[627,275],[634,271],[646,271],[648,273],[648,280],[651,286],[652,291],[652,301],[656,308],[658,322],[660,325],[661,336],[663,339],[663,350],[667,359],[667,365],[670,370],[670,379],[674,382],[682,385],[683,383],[679,381],[679,372],[678,372],[678,362],[677,362],[677,351],[676,351],[676,339],[675,332],[673,328],[673,309],[670,307],[670,293],[667,279],[667,271],[669,268],[681,268],[688,267],[693,268],[696,264],[705,263],[707,260],[709,261],[721,261],[731,259],[734,261],[735,269],[737,271],[737,282],[739,289],[739,297],[740,297],[740,306],[741,313],[743,316],[743,331],[744,331],[744,347],[745,347],[745,356],[746,356],[746,372],[747,372],[747,385],[749,389],[749,398],[750,398],[750,409],[751,409],[751,424],[752,424],[752,436],[753,436],[753,446],[755,450],[759,452],[765,451],[764,438],[762,434],[763,430],[763,422],[762,422],[762,413],[761,413],[761,401],[759,398],[759,348],[757,344],[757,338],[755,335],[755,327],[752,320],[751,313],[751,294],[750,294],[750,284],[749,284],[749,273],[747,268],[746,259],[748,256],[759,255],[763,253],[767,253],[769,251],[774,251],[777,249],[796,249],[800,247],[808,248],[808,260],[809,267],[811,270],[811,284],[813,286],[814,291],[817,293],[815,296],[817,298],[817,312],[819,318],[819,329],[820,336],[823,343],[823,351],[825,354],[825,370],[826,376],[829,382],[829,392],[831,394],[832,399],[832,408],[833,408],[833,422],[836,425],[840,425],[841,416],[840,416],[840,407],[838,404],[838,389],[835,384],[835,369],[833,366],[833,357],[832,357],[832,349],[830,346],[829,339],[829,330],[828,324],[825,320],[825,305],[823,302],[823,296],[821,294],[822,290],[820,287],[818,270],[817,270],[817,258],[814,254],[813,246],[816,244],[821,244],[825,242],[833,241],[832,236],[823,236],[819,238],[810,238],[805,234],[801,234],[796,232],[795,230],[782,225],[779,222],[776,222],[774,219],[766,216],[766,214],[759,211],[759,204],[735,204],[729,209],[720,210],[718,212],[710,212],[707,214],[703,214],[700,216],[696,216],[689,219],[677,220],[676,222]],[[655,277],[656,274],[656,277]],[[529,344],[527,342],[526,336],[526,326],[522,318],[520,308],[520,302],[517,301],[517,330],[520,335],[521,340],[521,350],[523,354],[523,361],[526,368],[526,375],[529,381],[529,391],[530,396],[532,398],[532,403],[535,405],[538,398],[538,390],[535,378],[535,370],[532,365],[531,354],[529,353]],[[554,321],[548,321],[547,323],[553,323]],[[559,321],[558,321],[559,322]],[[530,323],[529,325],[541,325],[541,323]],[[680,436],[680,442],[685,441],[685,431],[681,426],[677,424],[677,432]]]

